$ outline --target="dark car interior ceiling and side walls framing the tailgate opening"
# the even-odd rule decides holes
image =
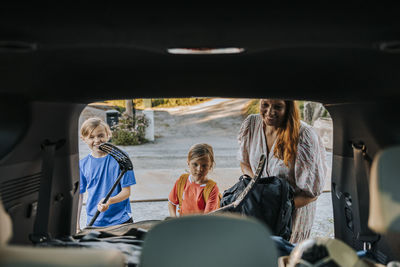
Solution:
[[[245,51],[166,51],[222,47]],[[368,175],[358,165],[400,143],[400,16],[365,3],[2,6],[0,193],[11,243],[75,233],[78,120],[88,103],[194,96],[323,103],[334,127],[335,237],[382,262],[394,257],[367,227]]]

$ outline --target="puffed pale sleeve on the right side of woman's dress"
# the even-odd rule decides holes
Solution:
[[[325,157],[325,148],[318,134],[306,127],[299,138],[294,171],[298,190],[310,197],[322,193],[327,173]]]

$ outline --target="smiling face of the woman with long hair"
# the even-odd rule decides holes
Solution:
[[[286,104],[283,100],[261,99],[260,114],[268,126],[280,127],[285,120]]]

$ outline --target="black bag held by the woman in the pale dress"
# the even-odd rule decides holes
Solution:
[[[234,186],[225,190],[221,207],[234,202],[251,179],[248,175],[242,175]],[[294,189],[287,180],[276,176],[262,177],[256,181],[240,205],[229,211],[255,217],[264,222],[273,235],[289,240],[292,233],[293,197]]]

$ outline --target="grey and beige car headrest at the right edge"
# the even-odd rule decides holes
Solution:
[[[379,152],[371,166],[368,226],[400,233],[400,146]]]

